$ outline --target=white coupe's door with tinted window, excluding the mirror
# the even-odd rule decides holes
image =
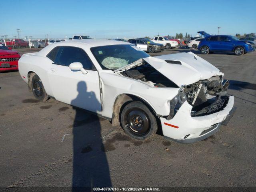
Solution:
[[[47,57],[52,62],[48,78],[54,98],[101,114],[99,75],[86,52],[78,47],[58,46]],[[82,63],[87,74],[70,70],[73,62]]]

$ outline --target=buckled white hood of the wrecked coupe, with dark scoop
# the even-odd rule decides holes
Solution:
[[[178,86],[224,75],[218,68],[192,52],[147,57],[143,60]],[[165,60],[180,61],[181,64],[167,63]]]

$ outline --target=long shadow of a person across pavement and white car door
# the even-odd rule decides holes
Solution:
[[[88,92],[85,82],[77,85],[78,96],[71,105],[87,102],[100,106],[94,92]],[[94,187],[111,187],[108,161],[101,136],[100,119],[74,107],[72,191],[92,191]],[[97,111],[100,111],[98,108]]]

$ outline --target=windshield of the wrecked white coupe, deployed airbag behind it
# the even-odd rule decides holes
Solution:
[[[149,57],[149,55],[134,45],[108,45],[92,47],[92,54],[102,69],[116,70],[128,64]]]

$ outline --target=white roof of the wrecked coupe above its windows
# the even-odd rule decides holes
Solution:
[[[81,39],[81,40],[68,40],[68,41],[60,41],[57,43],[50,44],[40,50],[38,52],[38,55],[40,56],[45,56],[52,50],[54,47],[57,46],[73,46],[73,47],[82,47],[82,48],[87,48],[90,49],[91,47],[98,47],[98,46],[107,46],[107,45],[133,45],[130,44],[129,42],[124,42],[124,41],[116,41],[116,40],[96,40],[96,39]]]

